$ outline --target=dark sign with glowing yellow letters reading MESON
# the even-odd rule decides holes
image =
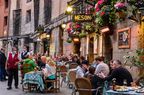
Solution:
[[[90,22],[93,20],[92,15],[88,14],[77,14],[73,16],[74,22]]]

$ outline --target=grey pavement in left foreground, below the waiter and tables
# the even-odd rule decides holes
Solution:
[[[68,89],[66,85],[63,85],[59,93],[29,93],[23,92],[22,86],[19,84],[19,89],[15,89],[14,86],[12,90],[7,90],[7,81],[0,82],[0,95],[71,95],[72,90]]]

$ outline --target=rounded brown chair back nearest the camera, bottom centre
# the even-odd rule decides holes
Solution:
[[[75,80],[75,86],[77,91],[79,92],[79,95],[92,95],[92,85],[90,80],[87,78],[77,78]],[[82,90],[82,89],[89,89],[89,90]]]

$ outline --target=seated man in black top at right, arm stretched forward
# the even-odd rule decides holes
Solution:
[[[99,73],[98,75],[107,81],[111,81],[115,78],[116,85],[122,86],[124,85],[124,82],[126,82],[127,86],[131,85],[131,82],[133,82],[132,75],[122,66],[122,63],[119,60],[113,61],[112,69],[113,71],[109,76],[106,76],[103,72]]]

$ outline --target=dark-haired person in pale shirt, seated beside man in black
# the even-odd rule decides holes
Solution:
[[[96,71],[95,74],[99,74],[99,73],[104,73],[105,76],[108,76],[109,74],[109,66],[104,63],[104,58],[103,57],[97,57],[96,59],[97,62],[97,66],[96,66]]]

